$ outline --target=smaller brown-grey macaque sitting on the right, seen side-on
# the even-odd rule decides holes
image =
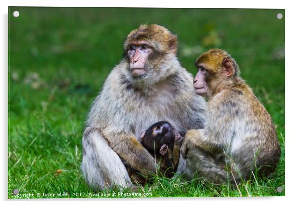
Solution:
[[[239,77],[239,67],[226,52],[211,49],[196,61],[196,93],[207,97],[205,128],[189,130],[181,153],[186,169],[177,173],[213,183],[248,179],[252,171],[268,176],[279,161],[280,146],[273,121],[253,91]]]

